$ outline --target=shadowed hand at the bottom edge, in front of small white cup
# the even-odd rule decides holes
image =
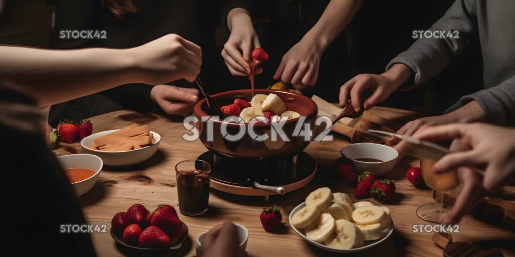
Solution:
[[[248,257],[247,253],[239,248],[236,226],[225,222],[212,228],[202,239],[197,250],[198,257]]]

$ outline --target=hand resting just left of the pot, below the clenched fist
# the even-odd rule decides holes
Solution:
[[[150,97],[167,114],[186,116],[192,113],[198,101],[198,90],[169,85],[157,85],[150,91]]]

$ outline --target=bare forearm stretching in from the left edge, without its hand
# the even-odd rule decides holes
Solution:
[[[130,49],[0,46],[0,80],[23,85],[40,106],[139,82]]]

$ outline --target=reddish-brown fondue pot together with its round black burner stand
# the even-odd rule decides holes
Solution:
[[[304,123],[315,130],[318,107],[310,98],[271,89],[256,89],[255,94],[276,94],[284,102],[286,110],[306,117]],[[250,102],[252,90],[227,91],[211,97],[220,106],[232,104],[237,98]],[[231,194],[268,196],[294,191],[313,179],[317,164],[310,155],[302,152],[310,141],[305,141],[303,136],[291,136],[298,119],[288,120],[282,127],[290,141],[257,141],[248,133],[240,140],[230,141],[222,136],[221,120],[213,122],[213,140],[208,141],[208,125],[200,120],[202,117],[217,116],[217,112],[208,107],[206,99],[202,99],[195,105],[194,115],[199,119],[196,126],[200,140],[210,150],[200,155],[199,159],[212,164],[212,188]],[[239,130],[241,127],[238,124],[227,124],[230,134],[234,135]],[[259,135],[270,135],[270,130],[270,124],[257,123],[254,126],[254,131]]]

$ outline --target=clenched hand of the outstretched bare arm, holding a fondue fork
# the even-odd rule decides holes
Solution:
[[[202,65],[202,49],[177,34],[167,34],[142,46],[128,49],[138,80],[149,85],[179,79],[195,81]]]

